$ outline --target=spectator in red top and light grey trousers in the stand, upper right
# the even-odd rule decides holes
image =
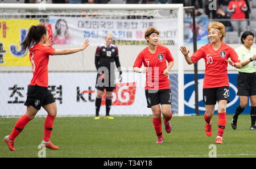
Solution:
[[[241,31],[247,29],[247,22],[245,20],[245,11],[247,11],[247,5],[243,0],[232,0],[229,2],[228,11],[232,13],[232,27],[233,31],[238,31],[240,35]]]

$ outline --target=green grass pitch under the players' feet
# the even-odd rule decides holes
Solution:
[[[38,157],[43,140],[44,117],[28,122],[15,140],[17,151],[10,151],[3,138],[10,134],[17,118],[0,118],[0,158]],[[227,115],[223,145],[216,145],[217,157],[256,157],[256,131],[249,130],[250,115],[240,115],[237,129]],[[163,120],[162,120],[163,123]],[[114,116],[114,120],[94,117],[56,117],[51,141],[59,150],[46,149],[46,157],[117,158],[208,158],[217,136],[218,115],[214,114],[213,134],[206,136],[200,116],[173,116],[172,132],[162,125],[164,143],[156,144],[152,116]]]

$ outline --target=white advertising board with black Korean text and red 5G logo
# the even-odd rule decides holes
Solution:
[[[135,73],[122,75],[123,81],[116,83],[112,93],[111,115],[151,115],[144,94],[146,77]],[[48,90],[56,100],[58,116],[95,115],[96,77],[97,73],[49,73]],[[32,73],[1,73],[0,78],[5,79],[0,87],[0,117],[24,115]],[[104,107],[105,99],[104,94],[101,102]],[[38,115],[47,112],[41,108]],[[105,115],[105,108],[100,109],[100,115]]]

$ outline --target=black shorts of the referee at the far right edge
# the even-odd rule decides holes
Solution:
[[[256,73],[238,73],[237,75],[237,95],[256,95]]]

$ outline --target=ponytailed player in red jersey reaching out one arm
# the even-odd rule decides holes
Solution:
[[[30,62],[33,71],[33,78],[28,85],[27,100],[24,103],[27,106],[26,114],[20,117],[14,126],[13,131],[9,136],[5,137],[10,150],[15,151],[14,140],[25,125],[34,119],[36,113],[41,107],[46,109],[48,115],[44,122],[44,138],[41,143],[42,146],[49,149],[59,149],[50,141],[53,121],[57,115],[57,107],[55,99],[48,90],[48,61],[49,55],[71,54],[84,50],[89,45],[89,40],[85,40],[80,48],[69,49],[54,49],[49,46],[51,39],[48,39],[46,27],[43,25],[31,26],[26,39],[23,41],[22,49],[30,50]]]

